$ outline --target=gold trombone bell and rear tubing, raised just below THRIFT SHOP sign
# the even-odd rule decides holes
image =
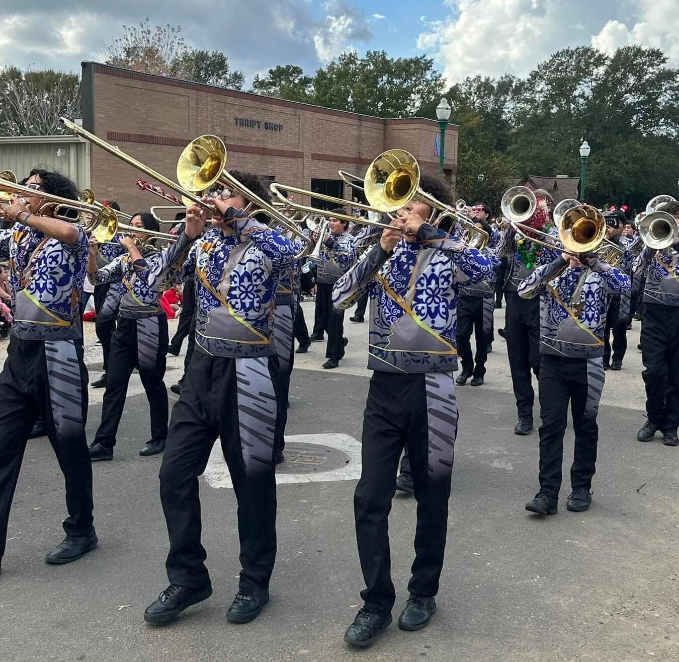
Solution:
[[[220,184],[224,188],[237,192],[249,201],[242,209],[243,213],[252,216],[256,208],[256,213],[267,214],[273,222],[297,235],[306,243],[306,249],[297,257],[304,256],[306,251],[312,247],[313,242],[274,205],[262,200],[249,188],[241,184],[236,177],[227,171],[226,162],[226,147],[219,137],[213,135],[198,136],[184,147],[179,156],[177,181],[187,191],[204,191],[212,188],[215,184]],[[287,201],[284,202],[287,203]]]

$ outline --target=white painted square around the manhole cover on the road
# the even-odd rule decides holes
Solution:
[[[323,483],[326,481],[352,481],[361,477],[361,444],[348,434],[287,434],[286,444],[313,444],[328,446],[338,451],[343,451],[350,457],[348,464],[337,469],[312,474],[276,474],[276,483]],[[219,439],[215,442],[208,466],[203,474],[210,487],[233,488],[229,469],[226,466],[224,455],[221,452]]]

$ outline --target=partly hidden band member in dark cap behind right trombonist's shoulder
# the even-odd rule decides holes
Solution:
[[[631,279],[632,254],[625,243],[621,241],[625,215],[621,211],[604,213],[606,219],[606,234],[608,241],[617,245],[624,251],[623,260],[618,265]],[[632,288],[624,290],[621,294],[615,294],[610,299],[608,313],[606,314],[606,326],[604,328],[604,370],[622,370],[623,359],[627,351],[627,322],[631,319],[631,295]],[[612,360],[610,335],[613,335]]]

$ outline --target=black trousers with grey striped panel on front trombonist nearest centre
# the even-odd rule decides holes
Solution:
[[[406,445],[418,503],[408,591],[431,597],[439,590],[457,430],[452,372],[373,372],[363,414],[361,480],[354,493],[354,517],[366,586],[361,597],[375,612],[390,612],[396,595],[388,517]]]

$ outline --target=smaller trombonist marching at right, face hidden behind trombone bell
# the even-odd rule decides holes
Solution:
[[[562,481],[568,402],[575,432],[568,510],[587,510],[595,471],[596,422],[604,387],[604,324],[610,296],[629,290],[629,277],[595,254],[562,253],[538,266],[519,284],[519,296],[540,294],[540,490],[526,504],[539,515],[555,515]]]

